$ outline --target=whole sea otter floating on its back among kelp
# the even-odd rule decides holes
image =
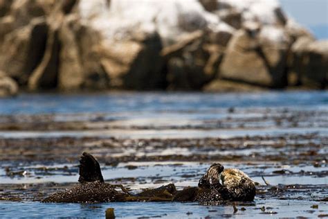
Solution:
[[[79,173],[78,186],[50,195],[43,202],[221,202],[253,201],[255,197],[252,179],[241,170],[225,170],[221,164],[212,164],[196,187],[176,191],[174,184],[167,184],[136,195],[130,194],[122,185],[105,183],[98,161],[87,152],[81,156]],[[117,191],[117,187],[122,191]]]

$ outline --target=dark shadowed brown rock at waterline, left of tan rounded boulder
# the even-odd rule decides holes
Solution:
[[[214,32],[208,34],[196,31],[163,49],[162,55],[168,60],[168,89],[201,89],[217,75],[224,49],[219,44],[210,43],[216,41]],[[230,38],[231,33],[227,34]],[[224,44],[224,40],[221,42]]]

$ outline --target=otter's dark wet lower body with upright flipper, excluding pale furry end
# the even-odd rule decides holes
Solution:
[[[42,202],[170,201],[176,192],[174,184],[168,184],[132,195],[122,185],[105,183],[98,161],[87,152],[83,152],[80,158],[79,174],[80,184],[50,195]],[[117,187],[122,191],[116,191]]]

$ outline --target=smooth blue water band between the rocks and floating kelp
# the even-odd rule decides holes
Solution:
[[[226,107],[327,109],[327,91],[271,91],[246,94],[109,93],[21,94],[0,100],[0,114],[67,114],[204,111]],[[115,118],[114,118],[115,119]]]

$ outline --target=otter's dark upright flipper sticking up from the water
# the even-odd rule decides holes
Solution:
[[[98,161],[89,153],[83,152],[79,168],[79,182],[104,182]]]

